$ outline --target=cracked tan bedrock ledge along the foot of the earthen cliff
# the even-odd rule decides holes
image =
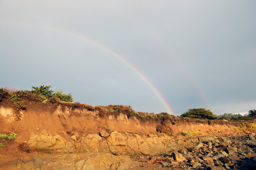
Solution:
[[[129,156],[156,155],[194,148],[194,144],[185,141],[183,136],[175,138],[164,133],[150,136],[114,131],[107,138],[89,134],[79,141],[67,142],[60,135],[32,133],[27,144],[32,150],[43,153],[104,152]]]

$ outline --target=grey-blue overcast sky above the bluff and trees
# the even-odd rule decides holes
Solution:
[[[256,109],[255,0],[0,0],[0,87],[180,115]]]

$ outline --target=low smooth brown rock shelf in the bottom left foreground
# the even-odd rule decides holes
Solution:
[[[107,170],[137,166],[129,156],[109,153],[72,153],[27,155],[0,161],[0,170]]]

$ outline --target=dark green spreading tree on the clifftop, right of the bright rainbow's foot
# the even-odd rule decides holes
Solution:
[[[214,115],[210,110],[206,110],[204,108],[188,109],[188,111],[181,114],[181,116],[198,119],[217,119],[216,115]]]

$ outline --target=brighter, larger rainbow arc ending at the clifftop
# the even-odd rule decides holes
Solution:
[[[166,100],[164,99],[164,97],[160,94],[160,92],[155,88],[155,86],[135,67],[133,66],[129,61],[125,60],[122,56],[118,55],[115,51],[107,48],[106,46],[93,41],[89,38],[87,38],[86,36],[83,36],[81,34],[75,33],[75,32],[71,32],[71,31],[66,31],[60,28],[56,28],[56,27],[49,27],[49,26],[45,26],[45,25],[34,25],[34,24],[7,24],[7,25],[20,25],[20,26],[26,26],[26,27],[35,27],[35,28],[40,28],[40,29],[47,29],[47,30],[52,30],[52,31],[56,31],[56,32],[61,32],[63,34],[67,34],[70,36],[74,36],[77,38],[80,38],[82,40],[85,40],[87,42],[90,42],[91,44],[100,47],[101,49],[107,51],[108,53],[112,54],[114,57],[116,57],[118,60],[122,61],[124,64],[126,64],[128,67],[131,68],[131,70],[133,70],[137,75],[140,76],[140,78],[142,80],[145,81],[145,83],[153,90],[153,92],[157,95],[157,97],[160,99],[160,101],[162,102],[162,104],[165,106],[165,109],[167,109],[167,111],[170,114],[174,114],[174,112],[172,111],[171,107],[168,105],[168,103],[166,102]]]

